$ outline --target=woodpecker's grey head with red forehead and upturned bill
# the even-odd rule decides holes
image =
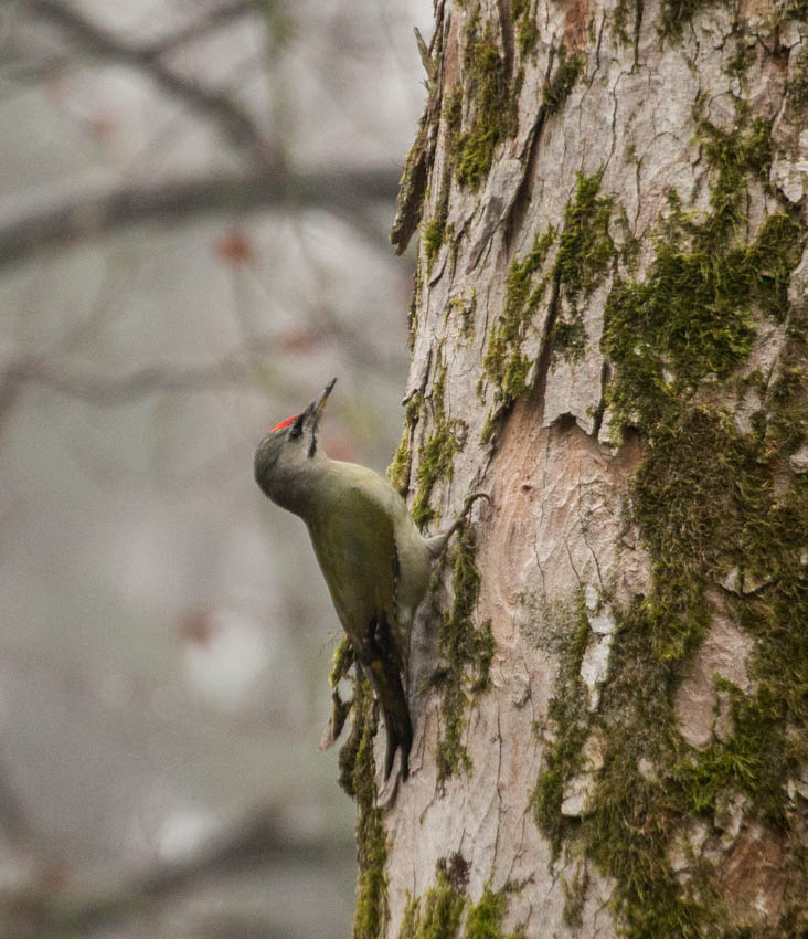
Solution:
[[[274,503],[298,514],[318,455],[320,415],[336,381],[331,379],[305,411],[275,424],[255,451],[255,482]]]

